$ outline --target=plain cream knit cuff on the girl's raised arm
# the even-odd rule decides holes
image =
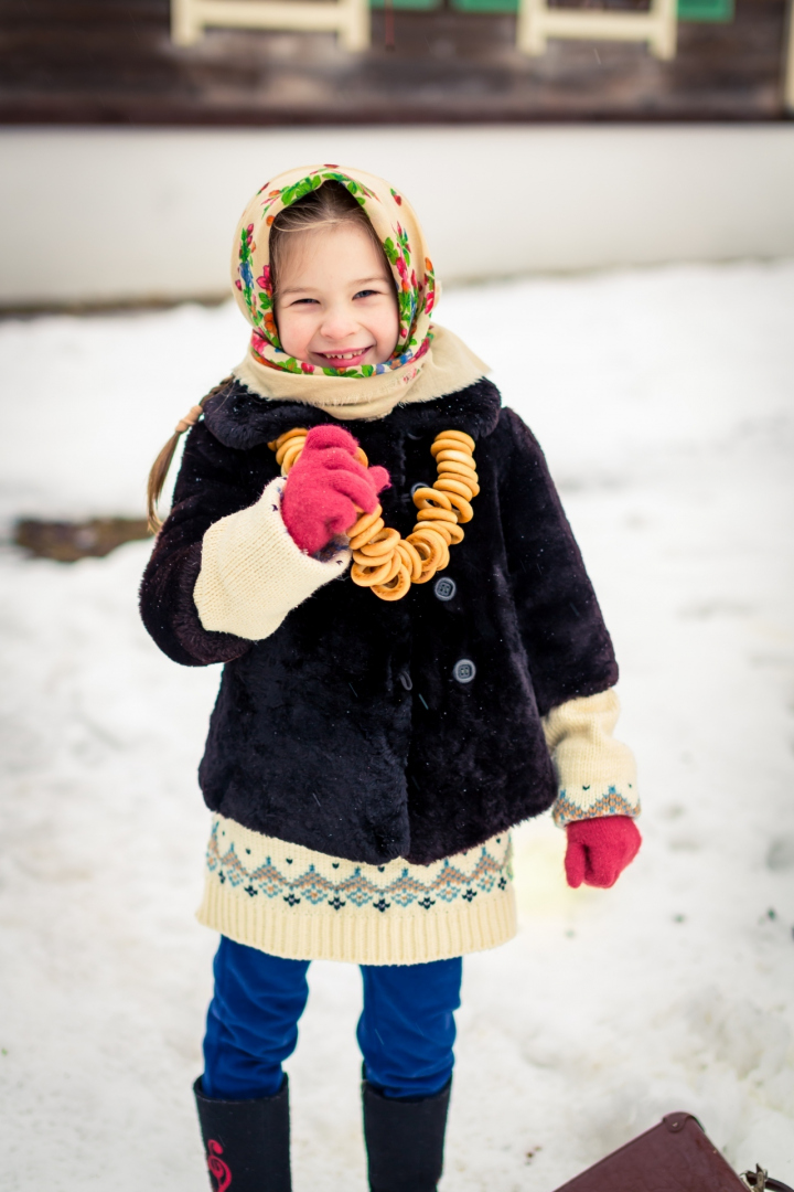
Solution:
[[[193,598],[205,629],[261,641],[348,569],[344,547],[320,561],[295,545],[281,516],[285,484],[276,477],[255,505],[221,517],[204,535]]]

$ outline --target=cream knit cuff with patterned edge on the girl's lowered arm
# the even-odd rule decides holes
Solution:
[[[604,815],[639,815],[633,755],[612,735],[619,713],[611,688],[569,700],[544,716],[558,783],[552,815],[559,827]]]

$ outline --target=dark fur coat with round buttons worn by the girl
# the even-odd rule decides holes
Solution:
[[[345,575],[262,641],[206,631],[193,601],[205,532],[279,474],[268,441],[329,421],[238,381],[205,403],[142,615],[175,662],[226,664],[199,771],[210,808],[332,856],[427,864],[551,805],[540,718],[612,687],[617,664],[543,453],[487,380],[344,423],[388,468],[383,517],[404,536],[412,485],[436,478],[434,435],[476,440],[474,520],[439,576],[451,598],[431,581],[386,602]]]

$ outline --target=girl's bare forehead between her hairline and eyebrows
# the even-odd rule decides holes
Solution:
[[[352,222],[285,232],[280,255],[282,290],[286,284],[389,275],[382,250],[365,228]]]

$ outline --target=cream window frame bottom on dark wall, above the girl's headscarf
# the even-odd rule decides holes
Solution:
[[[195,45],[210,26],[335,32],[351,54],[370,44],[368,0],[171,0],[176,45]]]

